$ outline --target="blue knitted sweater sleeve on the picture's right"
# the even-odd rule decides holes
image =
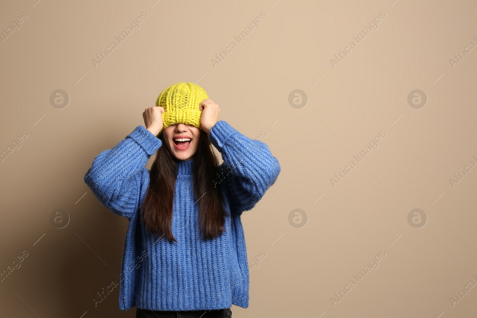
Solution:
[[[228,187],[231,212],[252,209],[280,174],[277,158],[265,143],[244,136],[225,121],[215,123],[208,139],[224,159],[218,181]]]

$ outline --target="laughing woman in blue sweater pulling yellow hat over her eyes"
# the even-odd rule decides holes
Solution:
[[[232,304],[249,306],[240,216],[275,183],[280,164],[219,113],[200,86],[174,84],[145,109],[145,127],[96,156],[84,176],[129,220],[119,308],[137,307],[136,317],[231,317]]]

